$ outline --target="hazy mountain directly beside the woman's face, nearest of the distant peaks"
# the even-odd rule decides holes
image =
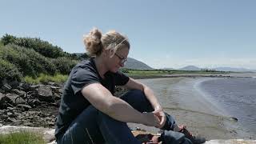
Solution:
[[[126,65],[124,67],[135,70],[153,70],[152,67],[147,66],[144,62],[140,62],[134,58],[127,58]]]

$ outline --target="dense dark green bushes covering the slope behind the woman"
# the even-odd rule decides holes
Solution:
[[[0,39],[0,82],[22,81],[41,74],[69,74],[73,66],[88,56],[69,54],[40,38],[17,38],[5,34]]]

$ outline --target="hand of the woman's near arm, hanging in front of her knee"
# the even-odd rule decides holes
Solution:
[[[160,126],[160,119],[154,113],[144,112],[142,114],[143,114],[143,123],[142,124],[144,124],[146,126],[155,126],[155,127]]]

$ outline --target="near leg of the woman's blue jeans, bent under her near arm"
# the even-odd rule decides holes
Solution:
[[[89,106],[70,124],[58,144],[76,143],[140,143],[131,133],[126,122],[120,122]]]

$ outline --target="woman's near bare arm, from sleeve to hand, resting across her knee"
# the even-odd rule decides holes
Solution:
[[[140,113],[127,102],[114,97],[100,83],[92,83],[82,89],[82,95],[102,113],[122,122],[135,122],[147,126],[159,126],[159,119],[153,113]]]

